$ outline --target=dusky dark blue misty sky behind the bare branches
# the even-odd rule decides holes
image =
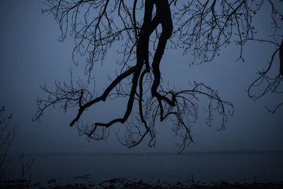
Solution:
[[[62,113],[58,108],[50,108],[42,117],[42,122],[31,122],[36,111],[35,98],[45,96],[40,85],[53,87],[55,79],[69,80],[72,66],[71,52],[74,47],[72,38],[64,43],[58,42],[59,26],[51,15],[42,15],[42,1],[0,1],[1,45],[0,45],[0,105],[6,105],[6,113],[13,113],[13,125],[18,127],[12,150],[15,152],[175,152],[175,137],[170,122],[157,125],[156,148],[150,149],[144,142],[139,147],[127,149],[120,144],[114,134],[107,142],[87,142],[79,137],[69,122],[74,118],[75,110]],[[255,17],[258,38],[268,38],[270,12],[263,6],[262,12]],[[226,123],[226,130],[216,132],[216,127],[207,127],[204,123],[200,103],[199,120],[192,127],[191,144],[185,151],[214,150],[283,150],[283,108],[272,115],[265,105],[275,107],[282,101],[282,95],[267,95],[256,103],[248,98],[246,91],[255,79],[256,71],[267,67],[275,47],[258,42],[248,42],[244,47],[245,62],[235,62],[239,48],[230,45],[222,49],[220,56],[213,62],[189,67],[190,55],[182,56],[180,50],[167,50],[161,62],[161,74],[164,84],[175,84],[176,88],[186,88],[189,81],[203,82],[219,91],[224,99],[235,106],[233,117]],[[115,70],[115,50],[110,50],[105,63],[98,63],[93,72],[97,88],[105,88]],[[275,62],[278,62],[279,56]],[[83,61],[76,73],[83,73]],[[277,63],[276,63],[277,64]],[[74,67],[74,65],[73,65]],[[275,65],[275,71],[277,71]],[[172,74],[173,73],[173,74]],[[275,72],[274,72],[275,73]],[[101,90],[98,90],[101,93]],[[125,101],[98,103],[85,115],[91,118],[110,119],[121,115],[125,110]],[[111,117],[112,118],[112,117]],[[111,131],[124,129],[115,125]]]

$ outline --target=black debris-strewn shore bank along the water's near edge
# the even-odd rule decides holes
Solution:
[[[156,181],[156,183],[146,183],[144,181],[134,181],[134,179],[125,179],[125,178],[115,178],[110,179],[108,181],[103,181],[101,183],[93,183],[88,181],[88,183],[76,183],[70,185],[56,185],[55,180],[50,180],[50,185],[47,187],[41,186],[40,183],[30,184],[30,181],[21,181],[21,180],[14,180],[14,181],[7,181],[2,182],[0,184],[0,188],[62,188],[62,189],[90,189],[90,188],[191,188],[191,189],[211,189],[211,188],[218,188],[218,189],[255,189],[255,188],[266,188],[266,189],[273,189],[273,188],[283,188],[283,181],[281,182],[266,182],[266,183],[227,183],[225,181],[221,181],[219,183],[204,183],[204,182],[197,182],[195,181],[187,181],[187,182],[177,182],[177,183],[168,183],[168,182],[161,182]]]

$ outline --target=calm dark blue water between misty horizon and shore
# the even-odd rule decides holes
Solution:
[[[283,154],[41,154],[33,158],[32,180],[44,183],[51,178],[68,183],[76,176],[90,174],[99,183],[110,178],[137,178],[144,181],[283,181]],[[85,182],[89,180],[76,179]],[[77,182],[76,181],[76,182]]]

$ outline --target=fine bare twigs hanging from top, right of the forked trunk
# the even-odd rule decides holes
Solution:
[[[177,8],[175,35],[184,54],[192,52],[192,63],[212,61],[221,47],[235,42],[240,45],[238,59],[243,59],[243,45],[253,38],[253,16],[263,1],[186,1]],[[178,4],[177,3],[177,4]],[[233,37],[233,38],[232,38]],[[236,37],[236,38],[235,38]]]

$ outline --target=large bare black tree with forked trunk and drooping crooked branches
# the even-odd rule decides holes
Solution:
[[[197,100],[199,96],[206,96],[207,125],[212,125],[214,114],[219,114],[221,124],[218,130],[224,129],[228,116],[233,114],[233,105],[222,100],[214,89],[196,81],[185,90],[165,89],[161,84],[161,59],[169,44],[172,48],[181,48],[184,55],[190,52],[195,57],[192,64],[201,64],[212,61],[219,55],[221,47],[235,42],[241,49],[238,59],[244,60],[243,45],[248,40],[255,40],[253,16],[262,7],[263,0],[45,2],[48,8],[42,12],[51,13],[59,23],[60,40],[64,41],[68,33],[74,38],[74,64],[79,63],[76,55],[87,57],[85,74],[88,79],[86,82],[71,79],[70,84],[56,81],[55,91],[41,86],[48,96],[37,98],[34,120],[40,120],[46,108],[57,104],[64,111],[78,108],[70,126],[76,124],[81,134],[99,140],[108,137],[110,126],[126,122],[125,141],[118,139],[127,147],[140,144],[146,136],[149,136],[149,146],[153,147],[156,144],[156,119],[161,122],[171,120],[174,134],[181,139],[177,147],[183,151],[193,142],[191,127],[197,120]],[[277,24],[278,16],[282,15],[273,1],[268,1],[268,4],[272,5],[272,19]],[[117,59],[120,71],[108,87],[95,96],[90,90],[93,66],[103,62],[113,44],[122,44],[123,47],[118,52],[121,58]],[[127,97],[127,109],[122,118],[91,125],[79,124],[81,115],[92,105],[120,97]],[[137,110],[134,103],[137,103]],[[130,115],[134,119],[129,119]]]

